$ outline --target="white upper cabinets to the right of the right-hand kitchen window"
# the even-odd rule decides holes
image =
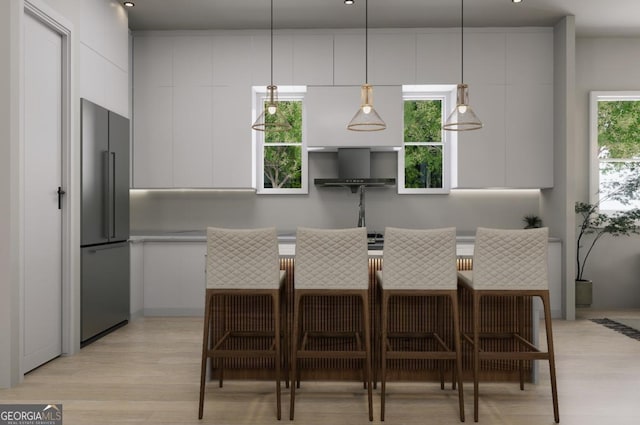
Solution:
[[[458,187],[553,187],[553,34],[479,32],[470,41],[465,81],[484,127],[458,135]]]

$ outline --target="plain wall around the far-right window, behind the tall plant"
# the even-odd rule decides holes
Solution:
[[[640,38],[576,40],[576,199],[589,199],[589,92],[640,90]],[[640,237],[598,242],[585,269],[593,308],[640,308]]]

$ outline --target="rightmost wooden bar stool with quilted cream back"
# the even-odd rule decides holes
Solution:
[[[473,332],[463,337],[473,345],[473,417],[476,422],[480,361],[497,359],[518,361],[521,390],[524,390],[523,362],[548,360],[553,416],[556,423],[560,422],[549,305],[548,239],[547,228],[504,230],[479,227],[476,231],[473,270],[458,273],[459,282],[471,291],[473,297]],[[520,311],[517,326],[514,329],[502,326],[502,332],[483,332],[480,300],[484,296],[516,297]],[[542,300],[547,351],[541,351],[526,338],[524,318],[521,317],[526,297],[539,297]],[[491,341],[505,339],[511,340],[512,345],[491,344]]]

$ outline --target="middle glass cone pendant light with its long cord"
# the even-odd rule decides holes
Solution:
[[[369,1],[364,2],[364,84],[360,88],[360,108],[347,128],[353,131],[380,131],[387,128],[373,107],[373,87],[369,84]]]

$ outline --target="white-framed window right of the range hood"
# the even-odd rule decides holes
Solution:
[[[448,193],[450,132],[442,130],[451,86],[404,86],[404,144],[398,152],[398,193]]]

